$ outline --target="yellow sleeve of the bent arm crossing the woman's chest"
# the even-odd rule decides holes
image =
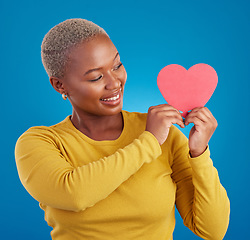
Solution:
[[[28,130],[15,149],[20,180],[32,197],[75,212],[105,199],[160,154],[157,139],[147,131],[114,154],[76,168],[64,159],[46,130]]]

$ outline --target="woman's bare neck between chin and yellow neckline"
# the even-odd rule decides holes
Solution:
[[[95,116],[79,114],[73,110],[71,122],[79,131],[96,141],[115,140],[123,130],[121,112],[110,116]]]

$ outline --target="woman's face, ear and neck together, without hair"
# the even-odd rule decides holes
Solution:
[[[50,81],[56,91],[68,96],[73,106],[71,121],[76,128],[90,138],[105,140],[103,126],[109,130],[109,139],[117,138],[122,131],[126,78],[117,49],[106,34],[99,34],[71,50],[63,77],[51,76]],[[114,115],[120,119],[119,128]],[[98,116],[98,124],[92,119],[94,127],[91,128],[86,118],[93,116]]]

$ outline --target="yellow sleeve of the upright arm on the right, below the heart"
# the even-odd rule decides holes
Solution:
[[[176,207],[185,226],[203,239],[223,239],[229,224],[230,203],[210,159],[209,148],[189,155],[188,139],[177,128],[173,137],[172,178],[176,182]]]

